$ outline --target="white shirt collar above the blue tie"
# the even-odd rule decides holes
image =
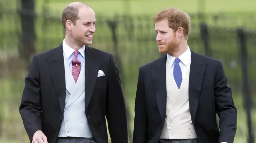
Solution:
[[[190,51],[190,48],[188,46],[188,49],[183,53],[181,54],[179,57],[180,61],[185,65],[187,66],[188,65],[188,62],[189,60],[191,59],[191,51]],[[176,58],[167,54],[167,60],[168,60],[168,63],[169,63],[169,67],[171,68],[172,67],[172,64],[174,62]]]

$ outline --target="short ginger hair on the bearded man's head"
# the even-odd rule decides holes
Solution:
[[[178,27],[182,27],[184,38],[186,40],[188,39],[190,17],[187,12],[172,7],[167,8],[153,16],[155,23],[161,20],[168,20],[169,27],[172,28],[174,32],[177,31]]]

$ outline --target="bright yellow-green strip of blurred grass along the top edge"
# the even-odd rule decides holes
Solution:
[[[203,5],[205,1],[205,5]],[[52,10],[58,11],[59,15],[64,7],[71,1],[64,0],[51,0],[49,6]],[[207,13],[219,13],[219,12],[255,12],[255,1],[252,0],[179,0],[179,1],[156,1],[156,0],[93,0],[86,1],[81,0],[86,4],[89,4],[96,14],[129,14],[129,15],[141,15],[141,14],[155,14],[161,9],[167,7],[180,8],[189,13],[195,13],[201,10],[203,7]],[[38,9],[39,10],[39,9]]]

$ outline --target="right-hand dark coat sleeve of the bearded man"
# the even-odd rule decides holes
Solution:
[[[233,143],[236,134],[237,109],[221,62],[215,78],[214,94],[216,111],[220,118],[219,142]]]

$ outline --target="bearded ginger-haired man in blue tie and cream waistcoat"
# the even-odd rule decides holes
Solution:
[[[133,143],[233,143],[237,110],[222,63],[189,49],[186,12],[164,9],[153,21],[165,55],[139,69]]]

